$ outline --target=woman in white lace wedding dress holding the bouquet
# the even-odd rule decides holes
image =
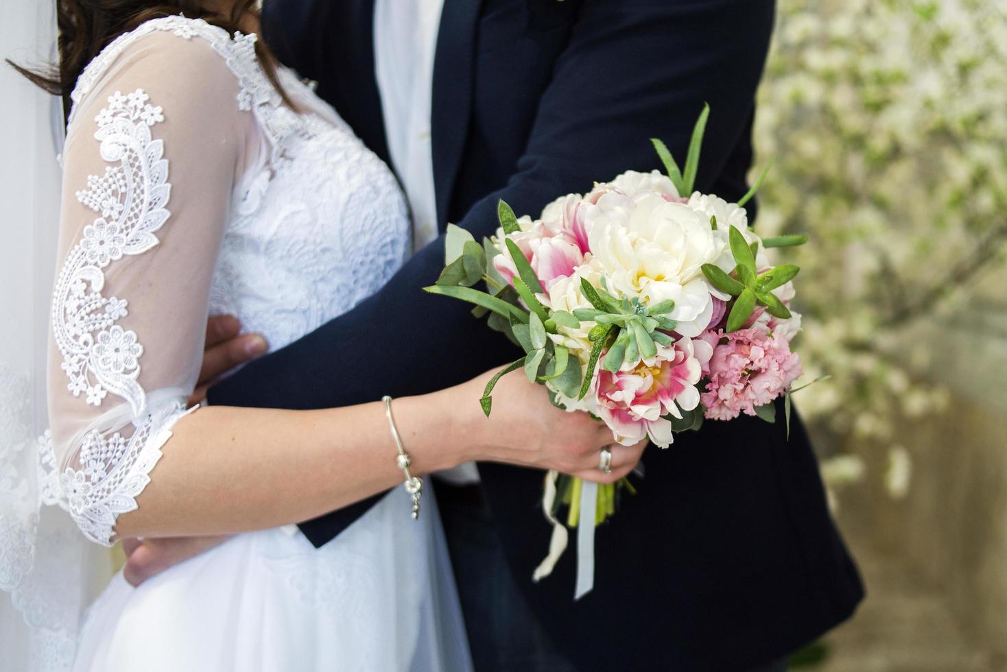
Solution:
[[[23,70],[71,101],[42,490],[99,544],[243,532],[138,589],[117,575],[74,669],[468,669],[419,476],[489,460],[610,481],[642,447],[603,476],[608,431],[518,376],[487,421],[489,373],[343,408],[186,408],[207,314],[283,347],[410,244],[395,177],[256,40],[256,4],[60,0],[58,70]],[[409,348],[414,325],[386,317]],[[320,549],[285,527],[392,488]]]

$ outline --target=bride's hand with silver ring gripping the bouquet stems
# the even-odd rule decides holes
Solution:
[[[472,430],[472,459],[551,469],[597,483],[614,483],[636,467],[648,442],[613,446],[612,432],[603,423],[586,412],[555,407],[546,388],[529,382],[521,371],[500,378],[485,417],[478,399],[495,372],[453,388]],[[604,448],[612,453],[610,474],[599,468]]]

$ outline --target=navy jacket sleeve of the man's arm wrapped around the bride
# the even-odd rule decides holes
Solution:
[[[519,213],[534,214],[594,180],[658,168],[651,137],[684,156],[704,102],[712,113],[698,188],[716,184],[722,195],[739,196],[743,171],[725,180],[725,167],[750,129],[771,23],[771,0],[587,0],[514,176],[459,225],[481,238],[497,226],[500,198]],[[467,305],[422,291],[443,262],[438,238],[353,310],[211,388],[210,402],[340,406],[433,391],[513,359],[513,346],[473,319]],[[374,501],[301,529],[320,545]]]

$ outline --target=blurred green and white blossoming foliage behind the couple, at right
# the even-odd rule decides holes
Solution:
[[[803,662],[1007,670],[1007,2],[777,12],[757,226],[813,238],[795,402],[868,585]]]

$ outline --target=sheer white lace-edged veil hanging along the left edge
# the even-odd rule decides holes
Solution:
[[[0,58],[53,62],[55,3],[4,2]],[[58,99],[0,61],[0,669],[61,670],[81,613],[111,575],[109,550],[43,505],[48,305],[59,221]],[[7,599],[9,593],[10,599]]]

